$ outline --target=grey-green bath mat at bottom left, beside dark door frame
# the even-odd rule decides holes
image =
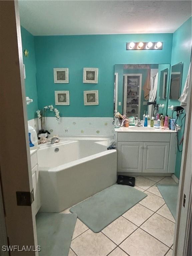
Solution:
[[[37,213],[39,255],[68,256],[76,220],[76,214]]]

